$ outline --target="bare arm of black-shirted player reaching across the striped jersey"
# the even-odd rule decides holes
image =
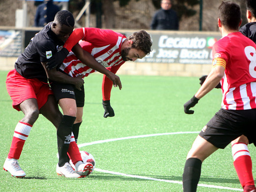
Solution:
[[[120,90],[122,89],[122,83],[119,76],[99,64],[95,58],[90,53],[82,49],[78,43],[73,47],[72,51],[82,63],[106,75],[113,82],[114,87],[118,86]]]

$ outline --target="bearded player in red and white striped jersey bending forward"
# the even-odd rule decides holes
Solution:
[[[136,61],[136,59],[142,59],[148,55],[152,46],[151,37],[144,30],[134,32],[127,38],[124,34],[112,30],[79,28],[72,32],[64,47],[67,50],[71,50],[72,46],[80,39],[82,41],[80,41],[79,44],[83,51],[89,52],[98,63],[114,74],[126,61]],[[64,59],[59,70],[69,76],[80,78],[87,77],[89,74],[96,71],[90,66],[87,66],[85,59],[81,57],[78,59],[73,52],[70,52]],[[113,82],[104,75],[102,81],[102,104],[105,110],[104,118],[113,117],[115,115],[110,105],[112,86]],[[56,100],[63,109],[64,115],[76,117],[72,131],[77,142],[85,100],[84,86],[80,88],[81,90],[78,90],[71,84],[52,82],[51,87]]]

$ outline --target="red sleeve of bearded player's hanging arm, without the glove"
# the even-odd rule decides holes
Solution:
[[[121,65],[122,64],[118,64],[115,66],[108,67],[107,69],[110,70],[112,73],[116,74],[117,70],[120,68]],[[103,75],[102,87],[101,87],[103,100],[110,100],[112,87],[113,87],[113,82],[109,78],[107,78],[106,75]]]

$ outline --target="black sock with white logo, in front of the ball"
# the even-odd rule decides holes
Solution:
[[[62,122],[57,129],[57,143],[59,153],[59,166],[62,167],[68,162],[67,150],[69,147],[72,126],[74,124],[75,117],[64,115]]]

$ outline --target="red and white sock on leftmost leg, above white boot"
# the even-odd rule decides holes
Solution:
[[[21,121],[16,125],[8,154],[9,159],[20,159],[24,143],[30,134],[31,128],[32,125]]]

